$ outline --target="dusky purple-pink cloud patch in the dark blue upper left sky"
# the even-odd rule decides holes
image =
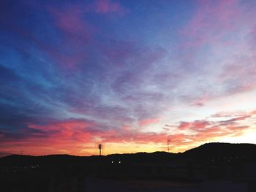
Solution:
[[[86,61],[87,53],[84,48],[91,42],[94,28],[83,18],[80,7],[50,7],[49,12],[62,35],[59,47],[48,50],[48,54],[57,64],[69,69],[75,68],[82,61]]]

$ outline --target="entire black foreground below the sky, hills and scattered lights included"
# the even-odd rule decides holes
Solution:
[[[256,191],[256,145],[209,143],[184,153],[0,158],[0,191]]]

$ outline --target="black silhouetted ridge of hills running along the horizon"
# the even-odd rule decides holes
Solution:
[[[255,144],[230,144],[212,142],[192,148],[184,153],[124,153],[111,155],[92,155],[92,156],[76,156],[76,155],[7,155],[0,158],[1,165],[7,164],[67,164],[67,163],[85,163],[94,162],[100,159],[106,161],[122,161],[124,162],[144,162],[144,163],[161,163],[173,159],[207,159],[207,158],[244,158],[256,159]]]

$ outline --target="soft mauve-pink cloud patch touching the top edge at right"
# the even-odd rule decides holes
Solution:
[[[198,8],[181,34],[186,46],[199,47],[221,39],[239,26],[242,18],[238,1],[198,1]]]

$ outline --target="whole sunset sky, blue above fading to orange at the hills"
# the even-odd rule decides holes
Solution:
[[[0,156],[256,143],[256,1],[4,0]]]

